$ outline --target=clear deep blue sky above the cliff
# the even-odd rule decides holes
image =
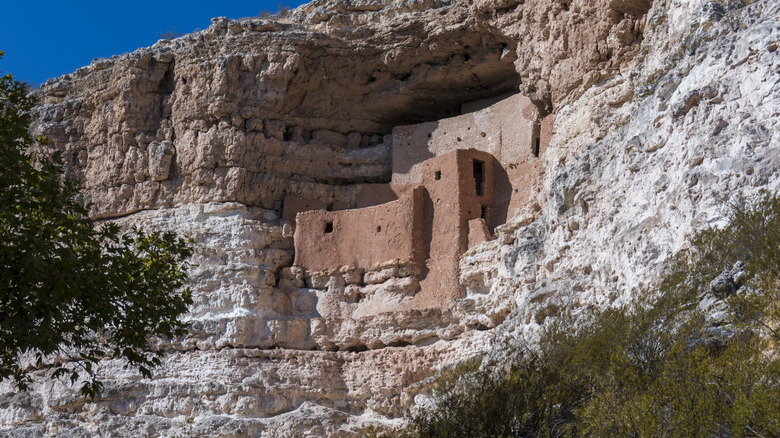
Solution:
[[[95,58],[151,46],[160,34],[205,29],[212,17],[276,12],[279,0],[0,0],[0,71],[35,85],[71,73]],[[302,0],[285,0],[294,8]]]

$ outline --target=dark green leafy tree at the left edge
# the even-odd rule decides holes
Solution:
[[[0,77],[0,380],[23,390],[45,367],[94,397],[98,361],[122,358],[148,377],[162,355],[155,338],[185,333],[192,250],[172,233],[96,227],[60,156],[36,163],[28,152],[35,103]]]

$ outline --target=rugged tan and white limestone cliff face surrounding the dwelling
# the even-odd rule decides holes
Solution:
[[[630,299],[729,199],[778,190],[778,17],[772,0],[315,0],[50,80],[35,129],[94,218],[195,240],[192,333],[151,380],[105,363],[94,401],[1,384],[0,436],[400,424],[437,370],[500,360],[556,306]],[[361,317],[343,290],[280,286],[285,195],[354,206],[390,181],[393,127],[507,92],[554,124],[530,199],[461,257],[465,297]]]

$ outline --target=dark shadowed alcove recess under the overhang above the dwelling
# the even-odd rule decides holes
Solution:
[[[312,130],[385,135],[395,126],[460,115],[464,103],[518,92],[516,43],[498,30],[430,39],[435,51],[399,45],[392,58],[362,48],[347,56],[343,47],[306,58],[288,84],[283,112]]]

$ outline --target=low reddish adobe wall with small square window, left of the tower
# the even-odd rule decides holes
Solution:
[[[296,223],[294,265],[310,271],[395,259],[422,264],[422,189],[374,207],[301,212]]]

